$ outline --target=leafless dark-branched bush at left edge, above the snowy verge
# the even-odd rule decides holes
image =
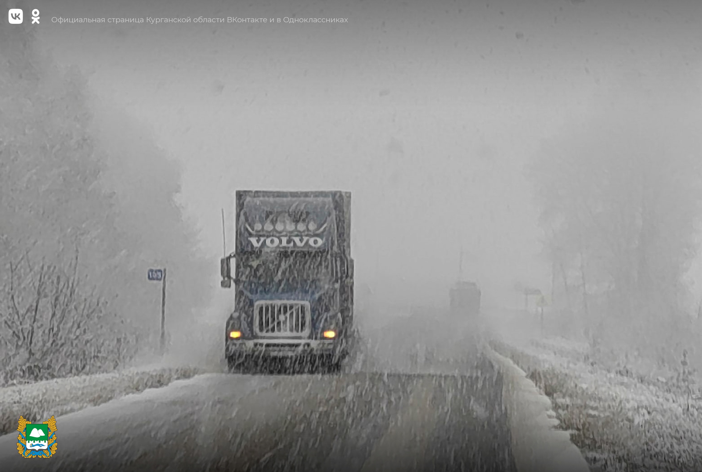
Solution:
[[[110,313],[77,273],[28,257],[8,264],[0,287],[0,363],[4,379],[38,380],[105,372],[136,352],[138,331]]]

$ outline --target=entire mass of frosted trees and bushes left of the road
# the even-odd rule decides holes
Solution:
[[[0,23],[0,384],[110,370],[157,347],[146,270],[168,267],[171,314],[188,320],[216,267],[197,253],[164,151],[128,117],[97,116],[79,71],[13,26]]]

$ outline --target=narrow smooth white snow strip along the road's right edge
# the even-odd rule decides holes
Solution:
[[[488,349],[503,373],[503,402],[512,434],[517,472],[589,472],[567,431],[559,431],[551,402],[512,360]]]

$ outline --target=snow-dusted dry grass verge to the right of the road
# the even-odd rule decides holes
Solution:
[[[576,344],[544,339],[495,347],[548,394],[593,468],[702,470],[702,402],[670,379],[604,368]]]

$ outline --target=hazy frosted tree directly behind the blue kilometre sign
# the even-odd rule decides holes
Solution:
[[[168,323],[197,323],[192,309],[205,303],[208,274],[219,266],[201,255],[195,225],[184,216],[178,163],[168,159],[143,123],[110,107],[98,107],[95,128],[105,149],[102,185],[117,205],[119,234],[112,236],[110,272],[121,281],[115,292],[119,306],[135,323],[157,332],[161,292],[158,284],[145,282],[146,269],[166,267]]]

